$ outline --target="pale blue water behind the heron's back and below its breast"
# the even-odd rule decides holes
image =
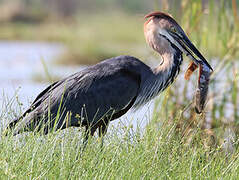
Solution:
[[[64,46],[57,43],[1,41],[0,107],[6,104],[6,99],[9,101],[13,98],[14,103],[11,108],[16,111],[16,115],[20,115],[20,111],[28,108],[34,98],[50,84],[33,80],[34,76],[43,76],[43,78],[46,76],[42,60],[53,77],[64,78],[84,68],[83,66],[62,67],[54,64],[54,59],[60,56],[64,50]],[[18,108],[18,102],[22,103],[21,109]],[[17,108],[14,109],[14,107]],[[150,119],[152,107],[151,103],[136,112],[129,112],[110,123],[111,127],[131,124],[134,129],[137,128],[137,125],[143,128]],[[3,111],[5,111],[4,108],[0,109],[0,114]],[[1,122],[1,124],[5,126],[7,122]]]

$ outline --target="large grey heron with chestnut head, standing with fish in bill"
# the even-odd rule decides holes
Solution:
[[[48,86],[8,128],[16,135],[27,130],[43,129],[47,134],[52,129],[85,126],[85,140],[96,129],[102,136],[110,121],[148,102],[173,83],[183,53],[212,70],[170,15],[153,12],[145,18],[144,35],[162,57],[159,66],[150,68],[132,56],[104,60]]]

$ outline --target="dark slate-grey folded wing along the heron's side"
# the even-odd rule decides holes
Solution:
[[[37,126],[42,116],[45,122],[49,121],[49,112],[51,119],[60,114],[58,128],[65,126],[67,114],[71,115],[70,126],[94,123],[105,115],[122,112],[135,100],[139,86],[139,73],[124,66],[98,64],[89,67],[40,93],[24,113],[21,127],[29,128],[32,121],[34,127]]]

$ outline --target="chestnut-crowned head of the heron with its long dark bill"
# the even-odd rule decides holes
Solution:
[[[144,23],[145,38],[154,50],[162,55],[173,51],[174,45],[196,64],[204,63],[213,70],[171,15],[156,11],[145,18],[148,19]]]

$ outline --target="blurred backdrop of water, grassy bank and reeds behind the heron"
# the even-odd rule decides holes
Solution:
[[[203,115],[191,105],[197,73],[184,80],[185,57],[177,81],[146,108],[153,112],[147,119],[178,121],[182,134],[200,126],[231,144],[239,133],[238,8],[239,0],[0,0],[0,117],[10,120],[50,82],[112,56],[157,65],[143,17],[160,10],[175,17],[215,71]]]

